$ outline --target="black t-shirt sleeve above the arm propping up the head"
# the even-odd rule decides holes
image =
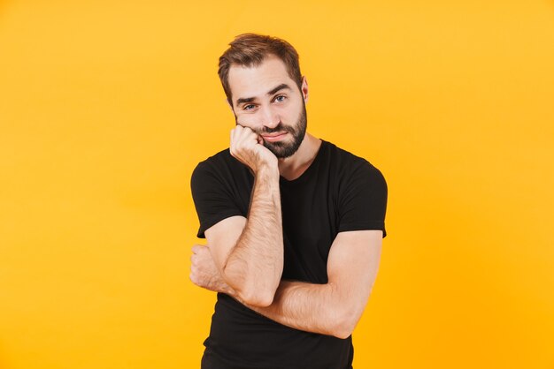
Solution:
[[[230,216],[242,215],[231,189],[208,163],[201,162],[196,166],[190,178],[190,187],[200,221],[196,237],[205,238],[204,231],[213,225]]]

